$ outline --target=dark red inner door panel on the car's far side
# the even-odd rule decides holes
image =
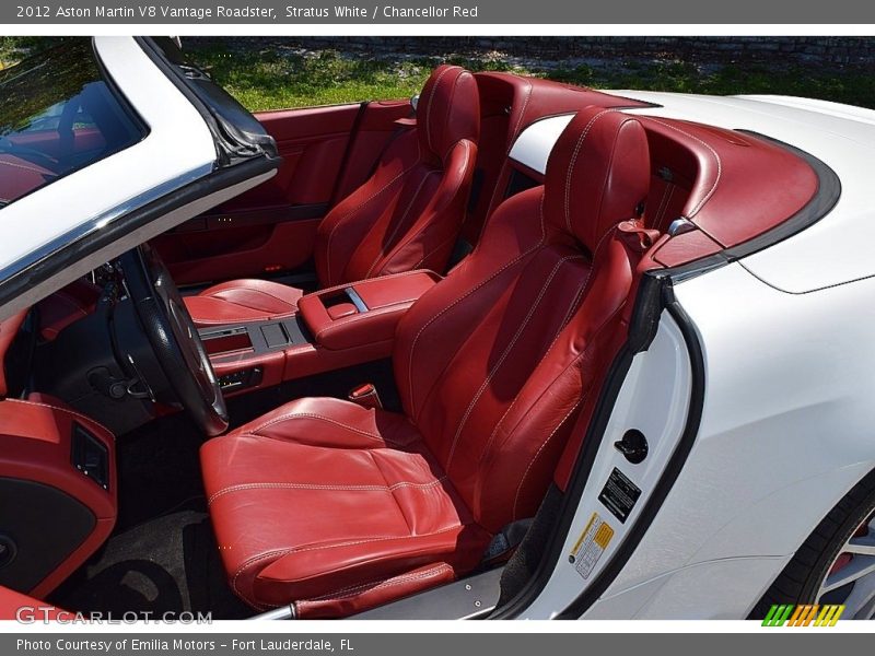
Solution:
[[[153,241],[178,284],[308,266],[319,221],[371,174],[409,101],[262,112],[283,163],[270,180]]]

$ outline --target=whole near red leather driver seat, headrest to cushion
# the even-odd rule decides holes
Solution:
[[[243,599],[350,614],[470,572],[494,534],[535,514],[614,356],[600,347],[621,329],[649,167],[635,118],[582,110],[546,185],[506,200],[402,317],[402,413],[305,398],[203,445]]]

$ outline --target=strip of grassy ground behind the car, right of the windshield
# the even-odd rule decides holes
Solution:
[[[442,59],[369,59],[320,50],[230,52],[221,47],[190,49],[217,82],[252,110],[401,98],[418,93]],[[875,75],[862,69],[800,65],[712,65],[632,61],[616,67],[522,67],[500,58],[451,58],[475,71],[512,70],[596,89],[639,89],[731,95],[769,93],[822,98],[875,108]]]

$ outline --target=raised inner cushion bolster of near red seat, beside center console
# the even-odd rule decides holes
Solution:
[[[329,448],[404,448],[419,441],[419,432],[402,414],[331,397],[285,403],[234,434],[261,435]]]

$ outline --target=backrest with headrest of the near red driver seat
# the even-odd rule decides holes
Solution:
[[[546,184],[505,201],[474,253],[405,315],[395,377],[405,412],[476,522],[532,516],[629,297],[650,162],[631,116],[588,108]],[[637,225],[637,224],[635,224]]]

